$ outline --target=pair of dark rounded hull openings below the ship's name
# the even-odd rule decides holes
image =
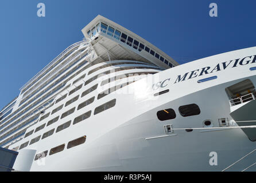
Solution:
[[[196,104],[180,106],[179,112],[183,117],[195,116],[201,113],[199,106]],[[176,113],[173,109],[160,110],[157,112],[157,118],[160,121],[172,120],[176,118]]]

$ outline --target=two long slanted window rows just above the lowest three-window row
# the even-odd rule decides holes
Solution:
[[[86,105],[91,104],[93,101],[94,101],[94,97],[92,97],[92,98],[90,98],[89,100],[87,100],[87,101],[86,101]],[[84,102],[81,103],[81,104],[83,104],[83,105],[80,106],[80,109],[82,109],[84,106],[86,106],[86,105],[84,104]],[[80,105],[81,105],[81,104],[80,104]],[[103,112],[104,110],[113,108],[113,107],[115,106],[115,104],[116,104],[116,99],[111,100],[111,101],[109,101],[109,102],[106,102],[105,104],[102,104],[102,105],[98,106],[98,107],[95,108],[95,110],[94,110],[94,115],[95,115],[95,114],[98,114],[98,113],[101,113],[101,112]],[[77,110],[79,110],[79,109],[77,109]],[[69,112],[70,114],[72,114],[73,111],[75,111],[75,108],[72,108],[71,110],[68,110],[68,112]],[[65,113],[67,113],[67,112],[65,112]],[[63,114],[64,114],[64,113],[63,113]],[[75,124],[77,124],[77,123],[79,123],[79,122],[81,122],[81,121],[86,120],[86,119],[89,118],[90,116],[91,116],[91,110],[88,111],[88,112],[86,112],[86,113],[84,113],[84,114],[82,114],[82,115],[80,115],[80,116],[78,116],[78,117],[76,117],[76,118],[73,120],[73,125],[75,125]],[[61,116],[61,117],[62,117],[62,116]],[[36,128],[36,130],[34,130],[34,133],[38,132],[38,131],[41,130],[41,129],[44,129],[44,128],[45,128],[45,125],[46,125],[46,126],[49,126],[49,125],[55,123],[55,122],[58,121],[58,120],[59,120],[59,116],[53,118],[53,119],[50,120],[50,121],[48,121],[47,125],[46,125],[46,124],[43,124],[43,125],[38,126],[38,127]],[[65,122],[65,123],[62,124],[62,125],[59,125],[59,126],[57,127],[57,129],[56,129],[56,133],[57,133],[57,132],[60,132],[61,130],[64,130],[64,129],[68,128],[70,125],[71,125],[71,120],[69,120],[68,122]],[[51,136],[51,135],[54,133],[54,130],[55,130],[55,129],[52,129],[52,130],[49,130],[48,132],[45,132],[45,133],[42,135],[42,139]],[[28,136],[30,136],[30,135],[32,135],[32,134],[33,134],[33,130],[31,130],[30,132],[26,133],[25,136],[24,136],[24,138],[26,138],[26,137],[28,137]],[[38,137],[36,137],[36,138],[33,138],[33,139],[30,141],[30,144],[29,144],[29,145],[38,142],[38,141],[40,140],[40,137],[41,137],[41,135],[38,136]],[[22,145],[20,146],[20,149],[25,148],[26,146],[28,146],[28,143],[29,143],[29,141],[28,141],[28,142],[25,142],[24,144],[22,144]]]

